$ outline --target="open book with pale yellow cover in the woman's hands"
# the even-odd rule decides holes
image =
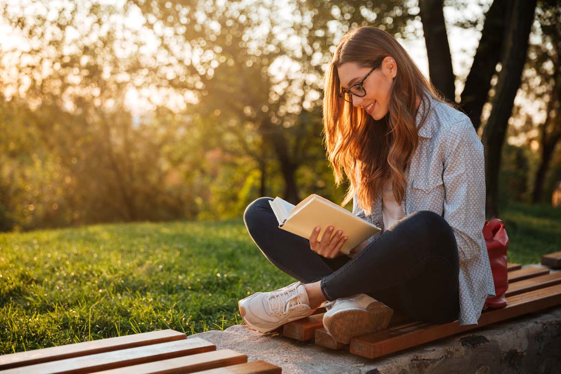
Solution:
[[[270,200],[269,204],[277,216],[279,227],[302,238],[309,239],[316,226],[320,227],[318,241],[321,241],[328,226],[333,226],[333,235],[337,230],[343,231],[343,236],[347,236],[341,248],[344,254],[349,254],[351,249],[380,231],[370,222],[316,194],[311,194],[296,206],[279,197]]]

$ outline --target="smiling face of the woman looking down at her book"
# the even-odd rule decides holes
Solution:
[[[360,67],[356,62],[346,62],[337,66],[337,74],[342,89],[347,90],[364,78],[372,67]],[[378,69],[375,69],[366,78],[362,86],[366,90],[365,97],[352,95],[352,104],[361,107],[375,120],[381,120],[388,113],[390,101],[390,88],[394,76],[397,75],[397,64],[393,58],[385,57]],[[341,99],[342,100],[342,99]]]

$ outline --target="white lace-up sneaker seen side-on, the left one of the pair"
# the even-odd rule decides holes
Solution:
[[[310,316],[317,309],[310,308],[306,288],[299,281],[275,291],[257,292],[238,301],[238,307],[246,325],[260,332]]]

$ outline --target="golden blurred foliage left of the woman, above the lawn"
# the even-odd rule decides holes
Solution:
[[[27,0],[0,15],[23,44],[0,75],[1,230],[336,199],[319,109],[333,44],[369,22],[415,31],[401,1]]]

